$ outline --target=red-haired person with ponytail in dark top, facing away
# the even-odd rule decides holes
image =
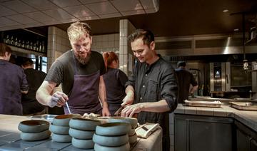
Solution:
[[[104,83],[106,84],[106,96],[109,112],[111,115],[121,108],[121,103],[125,93],[125,83],[128,80],[127,75],[119,70],[119,58],[114,52],[104,52],[104,63],[107,73],[104,74]]]

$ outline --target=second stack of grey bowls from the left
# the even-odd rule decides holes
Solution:
[[[49,129],[53,132],[51,138],[56,142],[71,142],[71,136],[69,135],[69,121],[72,118],[79,118],[81,115],[69,114],[59,115],[53,119],[53,123]]]

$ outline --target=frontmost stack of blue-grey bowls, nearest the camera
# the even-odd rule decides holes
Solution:
[[[105,123],[96,126],[93,136],[96,151],[126,151],[130,149],[128,132],[131,130],[129,123]]]

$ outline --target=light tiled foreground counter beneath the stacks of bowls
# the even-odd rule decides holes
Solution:
[[[54,142],[48,140],[26,142],[21,140],[18,125],[23,120],[29,120],[26,116],[1,115],[0,114],[0,150],[64,150],[79,151],[71,143]],[[161,150],[162,149],[161,127],[153,132],[147,139],[139,138],[131,145],[131,150]]]

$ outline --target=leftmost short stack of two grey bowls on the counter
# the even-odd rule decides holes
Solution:
[[[50,137],[49,122],[46,120],[24,120],[19,123],[21,140],[36,141],[45,140]]]

